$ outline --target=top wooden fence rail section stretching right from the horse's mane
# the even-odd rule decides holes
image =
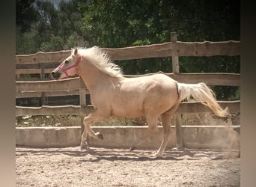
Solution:
[[[149,46],[132,46],[119,49],[104,49],[112,60],[159,58],[178,56],[240,55],[239,41],[226,42],[167,42]]]

